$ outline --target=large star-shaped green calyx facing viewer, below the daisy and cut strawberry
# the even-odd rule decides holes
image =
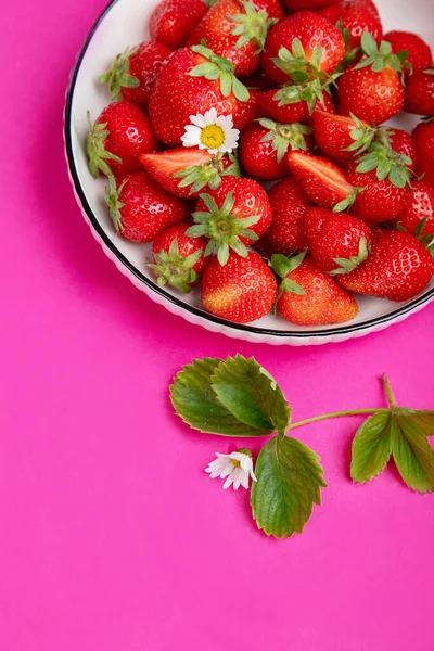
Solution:
[[[217,254],[218,261],[222,267],[229,259],[230,250],[242,257],[247,257],[247,247],[240,238],[255,242],[258,240],[257,234],[250,230],[250,227],[259,221],[260,215],[240,218],[233,213],[235,200],[232,191],[226,195],[221,208],[217,206],[209,194],[201,194],[200,197],[208,212],[193,213],[195,224],[186,231],[186,235],[207,238],[209,241],[205,248],[205,257],[213,253]]]

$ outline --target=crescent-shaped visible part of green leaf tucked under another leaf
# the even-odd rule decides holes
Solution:
[[[267,436],[273,427],[258,429],[241,422],[217,398],[213,391],[213,374],[221,359],[195,359],[183,367],[170,386],[176,413],[194,430],[221,436]]]

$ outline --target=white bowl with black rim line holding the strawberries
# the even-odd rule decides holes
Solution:
[[[93,119],[110,102],[108,90],[97,84],[98,76],[126,46],[149,38],[148,18],[158,0],[113,0],[98,18],[78,55],[72,73],[65,107],[65,145],[71,179],[82,215],[106,255],[119,271],[153,301],[171,312],[207,330],[251,342],[269,344],[311,345],[340,342],[362,336],[406,319],[433,298],[434,282],[419,296],[406,303],[380,298],[357,297],[360,311],[356,319],[335,327],[302,328],[268,315],[248,324],[238,326],[205,312],[201,306],[200,289],[189,295],[156,285],[148,267],[151,245],[132,244],[119,238],[112,226],[103,201],[105,181],[95,181],[89,173],[86,157],[87,120],[89,110]],[[378,0],[385,31],[407,29],[417,31],[434,44],[434,2],[413,0]],[[395,126],[411,130],[419,122],[409,115],[399,116]]]

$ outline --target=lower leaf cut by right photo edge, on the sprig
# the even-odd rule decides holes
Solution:
[[[392,454],[407,486],[418,493],[434,493],[434,450],[407,409],[392,417]]]

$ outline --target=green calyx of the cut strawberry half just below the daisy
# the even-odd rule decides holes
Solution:
[[[231,162],[231,165],[225,168],[222,159],[225,154],[213,156],[208,163],[204,165],[193,165],[186,167],[174,174],[175,179],[181,179],[178,183],[179,188],[190,188],[190,194],[195,194],[208,187],[210,190],[217,190],[221,183],[221,177],[234,176],[241,177],[240,163],[235,153],[226,154]]]

